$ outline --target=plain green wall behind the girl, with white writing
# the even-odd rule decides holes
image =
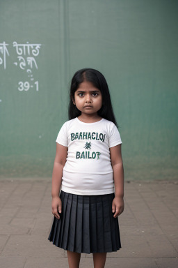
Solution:
[[[125,179],[177,179],[177,14],[176,0],[0,0],[0,177],[51,177],[70,80],[91,67],[111,91]]]

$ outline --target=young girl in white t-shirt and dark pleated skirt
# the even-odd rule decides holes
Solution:
[[[94,267],[103,268],[106,253],[121,248],[124,169],[108,85],[98,70],[74,74],[69,119],[56,139],[48,239],[67,250],[70,268],[79,267],[81,253],[92,253]]]

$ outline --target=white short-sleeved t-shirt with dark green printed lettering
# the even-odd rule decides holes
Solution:
[[[76,117],[63,124],[56,142],[68,147],[61,190],[76,195],[114,193],[109,148],[122,140],[113,122],[103,118],[84,123]]]

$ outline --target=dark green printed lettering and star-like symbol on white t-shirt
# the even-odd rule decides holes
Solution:
[[[104,142],[106,134],[96,133],[96,132],[76,132],[71,133],[71,140],[98,140],[99,142]],[[92,142],[86,142],[84,145],[84,149],[90,150],[92,147]],[[102,153],[99,151],[76,151],[76,159],[99,159],[99,156]]]

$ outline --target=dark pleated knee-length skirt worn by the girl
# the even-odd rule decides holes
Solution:
[[[77,253],[101,253],[121,248],[118,217],[113,217],[114,193],[74,195],[60,192],[62,213],[54,217],[49,241]]]

